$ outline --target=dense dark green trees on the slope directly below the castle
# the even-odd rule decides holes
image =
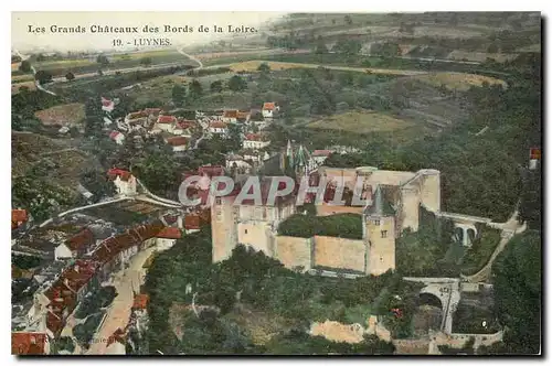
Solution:
[[[284,347],[293,354],[327,354],[331,349],[343,354],[392,352],[390,344],[378,343],[375,338],[346,347],[300,335],[307,332],[311,321],[335,319],[344,323],[362,322],[368,314],[355,312],[359,306],[372,302],[375,313],[389,317],[390,327],[402,332],[403,336],[406,332],[407,326],[401,322],[393,323],[391,319],[394,315],[388,308],[405,308],[408,314],[406,308],[417,290],[396,276],[385,273],[348,280],[302,274],[241,245],[229,259],[212,263],[211,250],[210,228],[205,227],[178,240],[171,249],[156,257],[146,279],[146,290],[150,294],[150,352],[280,354]],[[191,292],[187,290],[189,287]],[[168,321],[169,309],[174,302],[190,303],[193,293],[197,293],[195,304],[211,305],[216,311],[201,312],[199,317],[189,312],[181,326],[190,336],[178,341],[171,330],[176,324]],[[244,306],[262,310],[268,316],[284,316],[287,323],[295,324],[294,329],[300,333],[295,347],[291,349],[288,348],[290,345],[284,344],[287,344],[287,332],[274,336],[265,347],[253,345],[248,330],[233,321]]]

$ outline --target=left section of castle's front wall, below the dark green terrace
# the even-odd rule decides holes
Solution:
[[[294,269],[302,267],[309,270],[311,256],[311,238],[298,238],[294,236],[276,236],[275,258],[286,268]]]

